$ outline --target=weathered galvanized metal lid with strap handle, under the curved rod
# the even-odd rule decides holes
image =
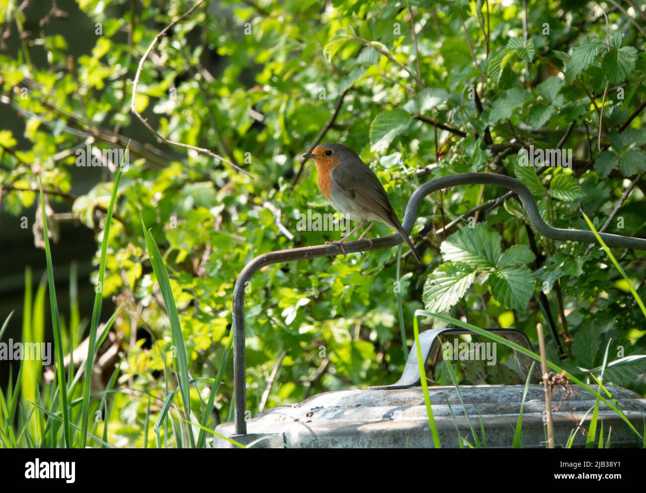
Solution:
[[[491,329],[492,332],[528,346],[525,334],[516,330]],[[435,359],[439,336],[468,334],[462,329],[433,329],[422,332],[420,343],[424,361]],[[531,360],[516,353],[519,367],[525,373]],[[545,392],[539,375],[532,374],[532,383],[523,405],[523,446],[545,447]],[[302,403],[279,406],[262,412],[246,423],[247,434],[236,434],[234,423],[224,423],[216,432],[245,445],[255,447],[340,448],[340,447],[433,447],[424,396],[419,384],[419,366],[413,351],[401,379],[393,385],[325,392]],[[461,386],[461,397],[455,387],[430,387],[433,416],[442,447],[459,447],[462,436],[475,445],[469,420],[477,439],[486,447],[511,447],[518,422],[525,385]],[[554,438],[557,447],[567,444],[578,423],[594,407],[596,398],[583,388],[569,385],[555,388],[552,394]],[[621,387],[607,387],[612,397],[638,429],[643,429],[646,399]],[[591,413],[588,414],[588,419]],[[636,447],[636,436],[625,421],[601,403],[599,423],[603,430],[612,429],[612,447]],[[600,424],[598,426],[601,426]],[[587,428],[587,425],[585,426]],[[481,432],[484,430],[484,433]],[[585,434],[578,430],[574,447],[585,445]],[[232,447],[216,438],[214,447]]]

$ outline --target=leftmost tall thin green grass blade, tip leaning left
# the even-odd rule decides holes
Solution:
[[[54,352],[56,353],[56,371],[58,375],[58,394],[63,413],[63,437],[65,447],[72,444],[70,439],[70,420],[67,414],[67,385],[65,385],[65,361],[63,357],[63,337],[61,336],[61,325],[58,317],[58,303],[56,301],[56,286],[54,285],[54,265],[52,265],[52,252],[49,247],[49,236],[47,232],[47,209],[45,208],[45,196],[43,195],[43,178],[39,176],[41,210],[43,211],[43,237],[45,238],[45,257],[47,258],[47,278],[49,280],[49,303],[52,310],[52,329],[54,330]]]

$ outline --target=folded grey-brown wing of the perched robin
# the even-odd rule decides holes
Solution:
[[[335,166],[330,180],[346,196],[381,217],[386,224],[399,225],[388,194],[368,165],[357,160],[357,166]]]

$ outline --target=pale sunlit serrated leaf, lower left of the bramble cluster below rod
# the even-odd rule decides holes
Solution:
[[[430,312],[450,310],[475,281],[475,270],[463,263],[446,263],[426,279],[422,299]]]

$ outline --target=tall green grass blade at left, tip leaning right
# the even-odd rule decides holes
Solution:
[[[112,195],[110,195],[110,204],[105,216],[105,226],[103,228],[103,241],[101,241],[101,259],[99,260],[99,278],[98,285],[95,289],[94,307],[92,308],[92,321],[90,322],[90,340],[87,346],[87,359],[85,359],[85,378],[83,379],[83,409],[81,410],[81,448],[85,448],[87,437],[87,423],[90,414],[90,384],[92,383],[92,367],[94,367],[94,354],[96,353],[96,332],[99,327],[101,318],[101,303],[103,302],[103,281],[105,279],[105,263],[108,253],[108,242],[110,241],[110,223],[112,223],[112,213],[114,212],[114,203],[116,203],[123,164],[128,156],[128,146],[123,153],[123,161],[117,170],[117,176],[114,179]]]

